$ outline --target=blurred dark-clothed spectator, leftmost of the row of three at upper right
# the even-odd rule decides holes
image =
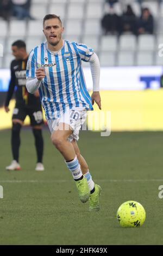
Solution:
[[[101,25],[105,35],[120,32],[120,17],[115,13],[114,8],[110,8],[109,13],[103,16]]]

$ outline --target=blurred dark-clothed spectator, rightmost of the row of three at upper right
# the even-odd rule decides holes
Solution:
[[[153,16],[148,8],[143,8],[141,17],[137,21],[137,34],[153,34],[153,28]]]

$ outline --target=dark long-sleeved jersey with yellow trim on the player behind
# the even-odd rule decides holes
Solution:
[[[35,107],[41,105],[40,97],[36,97],[33,94],[28,93],[26,89],[27,61],[28,58],[25,60],[14,59],[11,62],[11,80],[9,83],[7,98],[5,100],[5,106],[9,105],[16,86],[15,99],[17,105],[21,107]]]

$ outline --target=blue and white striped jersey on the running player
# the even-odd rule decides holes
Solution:
[[[56,53],[47,48],[47,42],[35,47],[29,55],[27,78],[35,78],[37,68],[45,68],[46,76],[39,88],[42,106],[47,119],[56,119],[67,108],[93,110],[86,89],[82,62],[89,62],[93,50],[84,44],[64,41]]]

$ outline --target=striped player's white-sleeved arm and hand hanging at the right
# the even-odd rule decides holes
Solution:
[[[91,56],[89,62],[91,66],[91,74],[92,74],[92,80],[93,80],[93,93],[91,96],[92,105],[96,102],[99,109],[101,109],[101,97],[99,94],[100,64],[99,64],[99,59],[96,53],[94,53]]]

